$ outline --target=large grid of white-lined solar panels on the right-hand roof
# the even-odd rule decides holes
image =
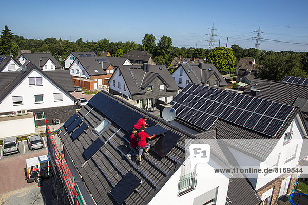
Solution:
[[[294,106],[188,84],[170,103],[177,118],[208,130],[217,118],[274,137]]]

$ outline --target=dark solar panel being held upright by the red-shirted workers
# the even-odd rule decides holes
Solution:
[[[180,135],[169,130],[164,136],[160,137],[152,151],[164,158],[181,138]]]

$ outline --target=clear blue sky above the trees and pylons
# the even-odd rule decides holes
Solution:
[[[5,1],[0,28],[32,39],[142,42],[146,33],[172,38],[177,47],[208,48],[214,22],[218,46],[308,51],[308,1]],[[266,40],[265,40],[266,39]],[[277,42],[274,42],[276,40]],[[288,42],[288,43],[287,43]]]

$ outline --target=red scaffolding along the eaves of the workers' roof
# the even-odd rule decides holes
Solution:
[[[83,198],[65,161],[63,150],[57,145],[50,132],[47,120],[46,136],[51,170],[52,195],[57,204],[83,205]]]

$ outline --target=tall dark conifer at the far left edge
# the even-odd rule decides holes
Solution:
[[[12,30],[9,29],[7,25],[5,25],[4,29],[1,31],[0,37],[0,54],[1,55],[10,55],[13,50],[16,50],[16,46],[13,42],[13,34]],[[18,46],[17,46],[18,47]]]

